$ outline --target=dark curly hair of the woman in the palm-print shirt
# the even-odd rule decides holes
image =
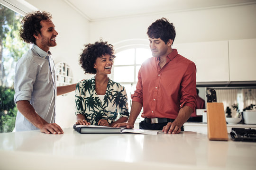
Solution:
[[[98,57],[102,58],[104,55],[109,54],[112,59],[116,58],[114,55],[115,51],[113,49],[113,45],[108,44],[108,42],[100,40],[94,44],[89,43],[84,46],[82,54],[80,55],[81,58],[79,60],[79,64],[83,68],[85,74],[96,74],[96,69],[93,67]]]

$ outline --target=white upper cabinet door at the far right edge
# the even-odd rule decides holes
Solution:
[[[229,41],[230,81],[256,81],[256,39]]]

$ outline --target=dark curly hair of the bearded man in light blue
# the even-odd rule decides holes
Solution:
[[[36,11],[27,14],[21,21],[19,29],[20,39],[27,43],[36,43],[36,38],[33,36],[41,34],[42,20],[50,20],[52,15],[49,12]]]

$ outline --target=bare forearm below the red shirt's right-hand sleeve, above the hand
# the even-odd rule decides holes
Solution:
[[[193,110],[191,107],[183,106],[183,108],[180,109],[179,114],[178,114],[177,118],[174,120],[174,122],[178,126],[182,127],[183,124],[189,119],[192,112],[193,112]]]

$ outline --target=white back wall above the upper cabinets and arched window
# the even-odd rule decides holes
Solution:
[[[174,23],[174,43],[256,38],[256,5],[246,5],[95,21],[90,23],[90,41],[147,39],[147,27],[161,17]]]

